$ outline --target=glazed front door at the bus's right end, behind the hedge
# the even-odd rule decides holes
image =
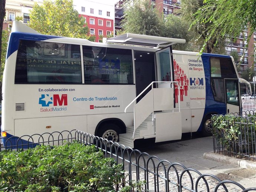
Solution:
[[[240,94],[238,79],[224,79],[226,113],[240,112]]]

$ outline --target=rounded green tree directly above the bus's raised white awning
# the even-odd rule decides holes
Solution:
[[[134,0],[124,11],[121,21],[124,33],[137,33],[162,36],[164,28],[163,16],[148,0]]]

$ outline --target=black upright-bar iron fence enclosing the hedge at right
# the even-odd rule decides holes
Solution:
[[[255,111],[212,117],[214,152],[256,160]]]

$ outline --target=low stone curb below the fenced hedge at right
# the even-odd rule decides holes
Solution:
[[[236,158],[220,155],[218,153],[213,153],[213,152],[204,153],[203,158],[226,163],[226,164],[232,164],[232,165],[239,166],[241,168],[252,169],[256,171],[256,162],[249,161],[249,160],[236,159]]]

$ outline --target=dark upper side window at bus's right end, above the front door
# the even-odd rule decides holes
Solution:
[[[211,57],[211,77],[237,78],[231,58]]]

